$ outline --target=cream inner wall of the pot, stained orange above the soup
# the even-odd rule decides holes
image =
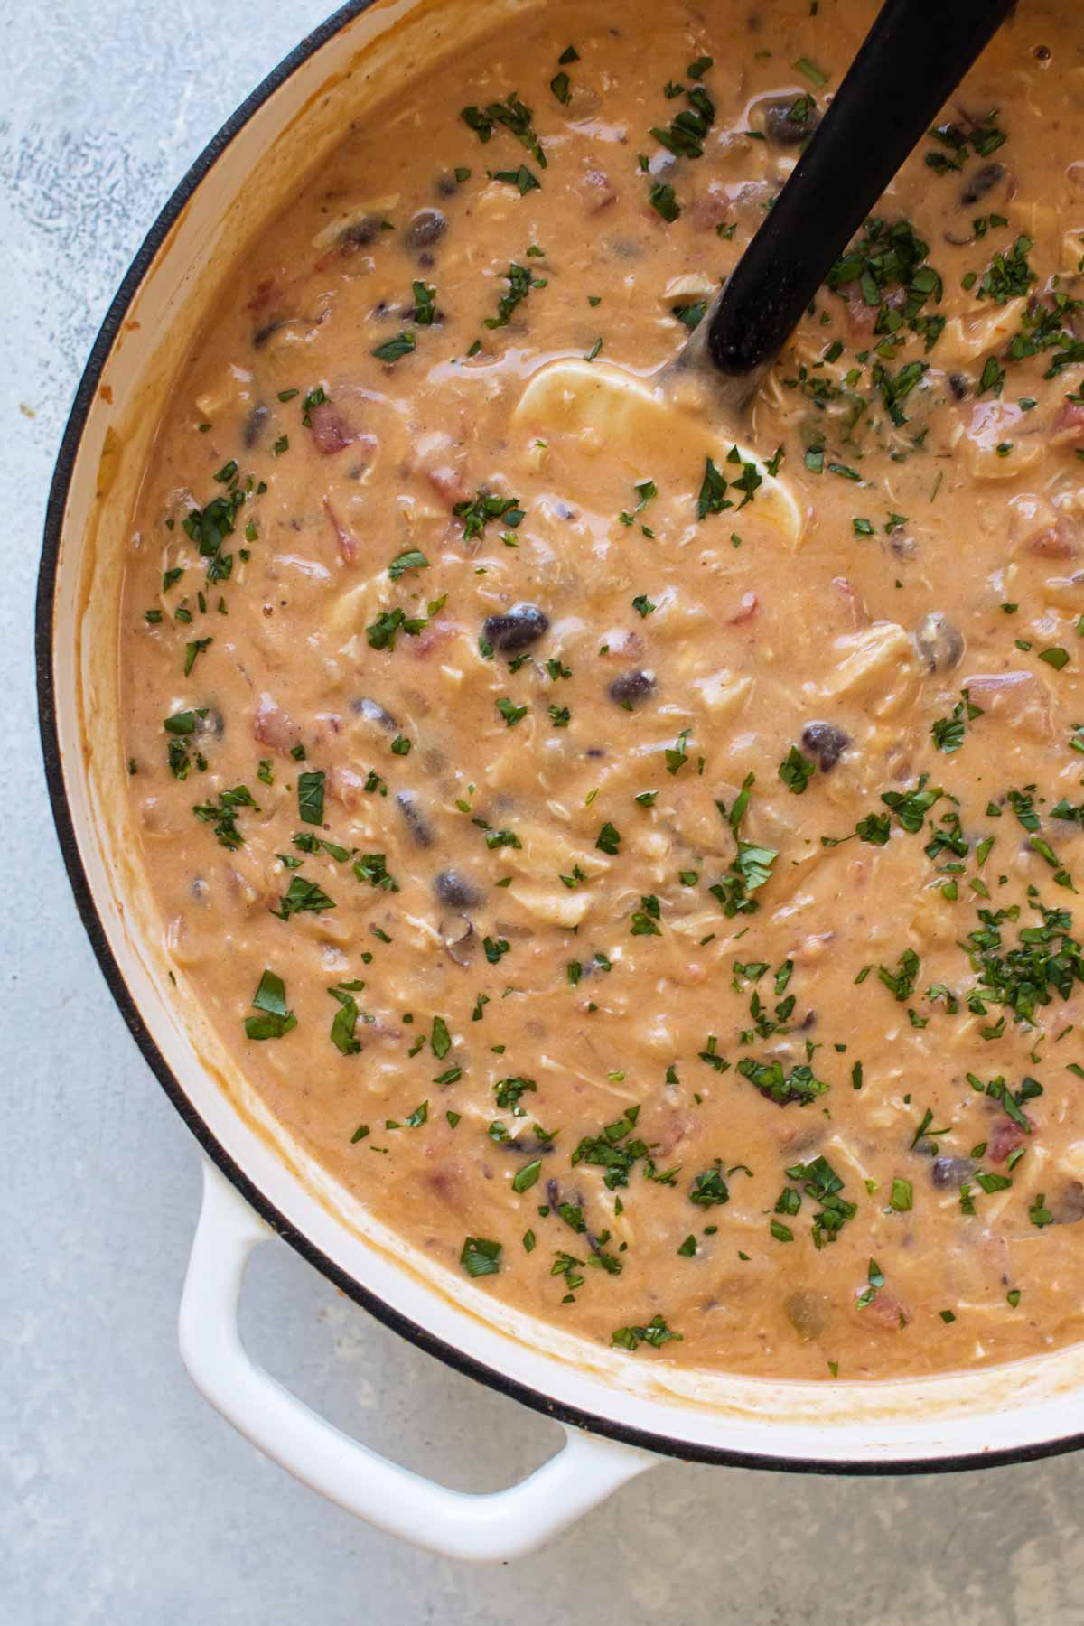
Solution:
[[[117,637],[125,559],[138,545],[132,514],[154,455],[154,426],[203,312],[250,237],[289,200],[359,112],[442,54],[483,39],[544,0],[411,0],[345,20],[278,83],[223,146],[143,268],[98,379],[76,402],[75,449],[55,561],[55,727],[83,870],[109,951],[153,1034],[151,1055],[190,1120],[263,1193],[275,1215],[374,1294],[390,1319],[478,1367],[505,1374],[523,1398],[551,1400],[666,1449],[749,1452],[819,1462],[905,1462],[1011,1450],[1063,1439],[1076,1426],[1084,1350],[1014,1367],[939,1379],[778,1384],[678,1372],[592,1348],[502,1309],[483,1288],[439,1273],[293,1145],[189,995],[140,870],[117,727]],[[80,437],[80,420],[85,416]],[[46,564],[49,569],[49,559]],[[63,813],[60,815],[63,824]],[[104,953],[99,943],[99,953]],[[172,980],[176,977],[176,982]],[[128,1020],[138,1021],[128,1011]],[[145,1047],[148,1041],[140,1034]],[[150,1050],[148,1050],[150,1054]],[[193,1127],[197,1127],[193,1124]]]

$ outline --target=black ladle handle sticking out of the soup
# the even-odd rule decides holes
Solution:
[[[1016,0],[886,0],[809,145],[715,302],[728,377],[774,361],[824,276]]]

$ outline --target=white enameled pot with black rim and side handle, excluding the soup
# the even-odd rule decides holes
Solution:
[[[544,0],[377,0],[309,36],[211,141],[163,210],[91,353],[57,462],[37,610],[42,743],[86,930],[148,1063],[205,1151],[180,1348],[206,1398],[340,1506],[468,1559],[538,1546],[658,1454],[806,1472],[904,1473],[1081,1444],[1084,1346],[891,1384],[676,1372],[590,1346],[405,1250],[270,1119],[163,948],[135,854],[117,730],[122,561],[140,470],[208,299],[351,117],[450,49]],[[484,1496],[431,1485],[317,1418],[245,1354],[245,1259],[278,1233],[450,1366],[556,1416],[557,1455]]]

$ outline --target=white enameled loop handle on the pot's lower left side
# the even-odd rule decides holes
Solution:
[[[328,1501],[445,1558],[520,1558],[657,1457],[562,1424],[561,1450],[507,1491],[468,1494],[377,1455],[252,1361],[237,1330],[249,1254],[275,1233],[203,1159],[203,1206],[180,1298],[180,1356],[197,1389],[265,1455]]]

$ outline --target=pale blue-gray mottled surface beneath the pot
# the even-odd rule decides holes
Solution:
[[[190,1389],[176,1307],[195,1145],[111,1005],[39,769],[31,606],[52,459],[130,255],[320,0],[0,7],[0,1621],[353,1626],[1084,1621],[1074,1457],[847,1481],[666,1465],[512,1569],[421,1556],[325,1506]],[[252,1346],[341,1426],[462,1488],[549,1426],[263,1249]]]

